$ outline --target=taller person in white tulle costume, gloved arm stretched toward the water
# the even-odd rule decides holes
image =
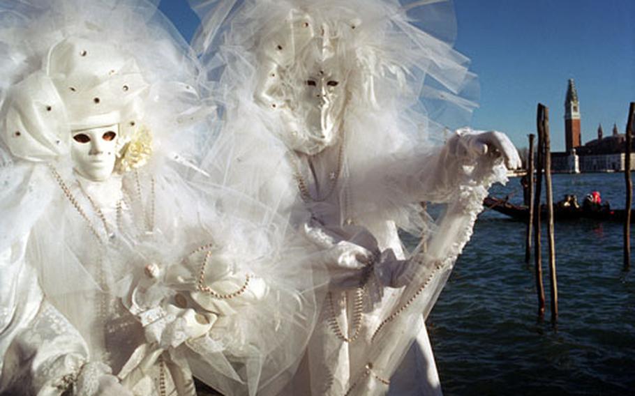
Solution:
[[[191,0],[237,188],[290,213],[331,282],[294,395],[440,394],[423,320],[505,166],[500,132],[443,126],[475,106],[445,1]],[[443,32],[442,32],[443,33]],[[421,101],[420,101],[421,100]],[[422,106],[423,105],[423,106]],[[275,171],[275,172],[274,172]],[[286,172],[286,174],[285,174]],[[241,175],[250,182],[241,184]],[[277,177],[269,174],[276,174]],[[233,177],[233,180],[232,180]],[[446,204],[433,220],[422,202]],[[404,250],[398,229],[421,235]],[[317,270],[316,270],[317,271]],[[423,314],[423,316],[422,316]],[[391,376],[414,350],[391,383]]]

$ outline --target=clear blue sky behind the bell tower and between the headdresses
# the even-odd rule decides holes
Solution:
[[[316,0],[317,1],[317,0]],[[471,126],[507,132],[518,147],[535,131],[536,106],[550,109],[554,151],[565,146],[564,102],[573,78],[583,142],[613,123],[624,131],[635,101],[634,0],[454,0],[456,49],[472,59],[481,83]],[[186,40],[197,17],[186,0],[163,0],[160,10]]]

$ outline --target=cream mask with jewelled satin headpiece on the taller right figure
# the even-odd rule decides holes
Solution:
[[[308,27],[307,27],[308,26]],[[335,51],[337,40],[329,26],[315,36],[308,16],[293,20],[291,36],[273,36],[266,43],[260,63],[262,82],[257,98],[278,112],[283,128],[278,137],[288,148],[308,155],[320,153],[338,142],[347,102],[347,59]],[[288,36],[288,35],[287,35]]]

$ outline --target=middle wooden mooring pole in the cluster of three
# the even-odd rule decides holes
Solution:
[[[542,283],[542,261],[540,245],[540,196],[542,189],[542,165],[544,156],[544,124],[542,123],[542,105],[538,105],[536,117],[538,129],[538,148],[536,158],[536,191],[534,195],[534,260],[536,271],[536,291],[538,293],[538,317],[544,317],[544,285]]]

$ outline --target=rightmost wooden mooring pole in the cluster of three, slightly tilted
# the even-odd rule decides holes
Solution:
[[[551,137],[549,136],[549,108],[542,105],[544,133],[544,183],[548,215],[547,241],[549,248],[549,278],[551,280],[551,321],[558,321],[558,277],[555,271],[555,238],[553,236],[553,189],[551,188]]]

